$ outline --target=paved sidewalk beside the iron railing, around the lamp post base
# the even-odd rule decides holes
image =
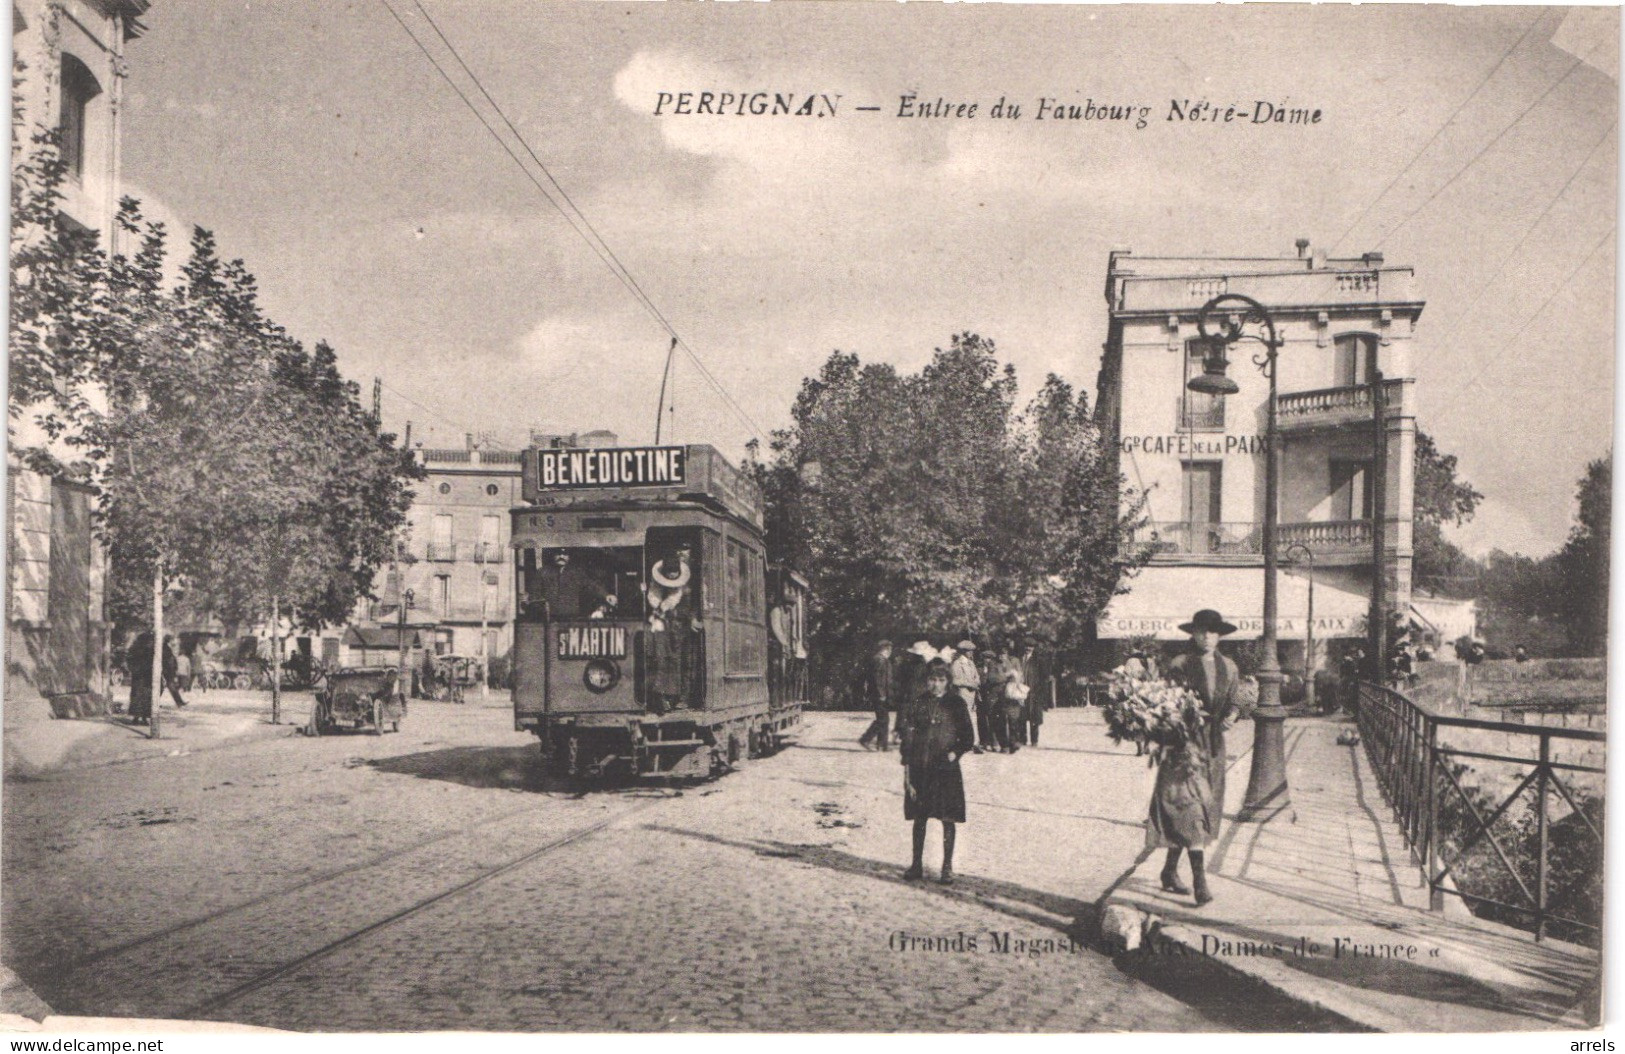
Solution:
[[[1354,1028],[1594,1025],[1596,952],[1536,944],[1519,931],[1474,919],[1459,905],[1427,911],[1422,872],[1410,862],[1365,747],[1337,744],[1337,734],[1352,728],[1334,719],[1289,721],[1292,809],[1266,823],[1227,819],[1207,853],[1212,903],[1196,908],[1190,896],[1164,892],[1157,851],[1102,898],[1103,913],[1142,922],[1142,955],[1178,955],[1243,974]],[[1246,794],[1246,732],[1232,732],[1246,752],[1232,760],[1227,817]]]

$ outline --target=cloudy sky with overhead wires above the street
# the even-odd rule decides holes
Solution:
[[[158,0],[124,123],[148,213],[213,229],[414,440],[650,442],[666,325],[697,362],[674,357],[663,438],[731,453],[834,349],[913,370],[975,331],[1025,391],[1092,393],[1112,248],[1306,237],[1415,268],[1419,425],[1485,494],[1459,544],[1557,547],[1610,447],[1615,8],[418,3]],[[655,112],[681,91],[838,101]],[[905,94],[978,112],[900,117]],[[1001,97],[1022,115],[994,119]],[[1147,120],[1035,120],[1040,99]],[[1167,120],[1173,101],[1321,120]]]

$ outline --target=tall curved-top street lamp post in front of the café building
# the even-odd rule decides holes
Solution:
[[[1209,331],[1209,325],[1217,325]],[[1292,804],[1287,793],[1287,752],[1284,724],[1287,711],[1280,705],[1280,654],[1276,635],[1276,528],[1280,518],[1277,486],[1280,477],[1280,435],[1276,421],[1276,359],[1285,343],[1276,333],[1276,320],[1263,304],[1238,292],[1225,292],[1202,304],[1196,315],[1206,354],[1202,372],[1186,387],[1204,395],[1235,395],[1240,387],[1225,374],[1230,365],[1225,349],[1240,341],[1264,346],[1253,364],[1269,378],[1269,409],[1264,424],[1264,637],[1258,666],[1258,708],[1253,711],[1253,770],[1246,780],[1246,799],[1237,819],[1263,822]],[[1254,330],[1254,331],[1248,331]],[[1261,335],[1259,335],[1261,331]]]

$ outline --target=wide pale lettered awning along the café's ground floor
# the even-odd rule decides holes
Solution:
[[[1128,580],[1095,622],[1102,640],[1155,637],[1185,640],[1181,622],[1214,607],[1235,624],[1238,638],[1264,632],[1264,572],[1258,567],[1146,567]],[[1303,640],[1310,583],[1305,575],[1276,575],[1276,638]],[[1365,637],[1370,598],[1326,581],[1315,583],[1315,640]]]

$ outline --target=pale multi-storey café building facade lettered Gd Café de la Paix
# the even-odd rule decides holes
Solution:
[[[1380,253],[1331,258],[1139,258],[1113,252],[1107,266],[1110,325],[1097,414],[1129,497],[1142,497],[1136,542],[1150,564],[1107,607],[1105,640],[1181,638],[1196,607],[1217,607],[1240,638],[1263,630],[1263,520],[1269,383],[1254,369],[1261,344],[1228,351],[1240,391],[1198,395],[1198,312],[1220,294],[1245,294],[1272,315],[1284,339],[1277,365],[1277,637],[1287,669],[1320,641],[1367,632],[1373,568],[1384,606],[1410,604],[1417,393],[1415,330],[1424,300],[1415,276]],[[1381,375],[1381,432],[1373,378]],[[1380,447],[1380,448],[1378,448]],[[1384,468],[1378,473],[1375,466]],[[1378,474],[1381,477],[1378,477]],[[1384,552],[1373,551],[1381,510]]]

